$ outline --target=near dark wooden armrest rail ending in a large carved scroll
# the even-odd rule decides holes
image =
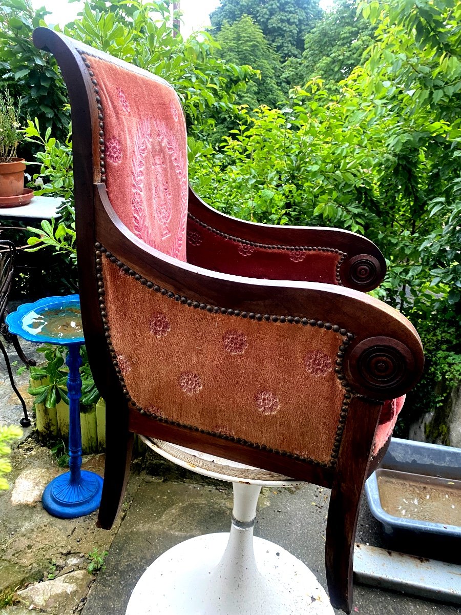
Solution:
[[[163,295],[210,313],[337,331],[345,336],[339,360],[344,380],[369,399],[399,397],[419,380],[424,366],[419,335],[382,301],[330,284],[261,280],[183,263],[128,231],[101,184],[95,186],[95,201],[98,242],[141,284],[157,285]]]

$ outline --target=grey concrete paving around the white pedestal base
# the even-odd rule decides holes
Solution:
[[[83,615],[124,615],[136,581],[160,554],[193,536],[229,530],[232,489],[228,483],[173,466],[151,451],[143,471],[131,483],[132,504],[112,542],[106,569],[90,590]],[[257,536],[276,542],[304,561],[324,587],[328,496],[328,490],[313,485],[264,488],[255,530]],[[379,526],[366,502],[362,509],[357,541],[380,545]],[[362,615],[459,613],[455,606],[358,585],[354,595],[352,613]]]

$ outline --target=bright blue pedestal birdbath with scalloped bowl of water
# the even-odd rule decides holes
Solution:
[[[54,517],[71,519],[88,515],[100,505],[103,479],[94,472],[81,469],[80,347],[84,344],[84,337],[79,295],[46,297],[35,303],[25,303],[8,314],[6,322],[12,333],[30,341],[67,346],[69,472],[54,478],[45,487],[42,504]]]

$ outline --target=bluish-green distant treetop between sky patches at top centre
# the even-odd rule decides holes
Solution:
[[[250,15],[258,23],[267,41],[285,60],[302,54],[304,37],[321,17],[318,0],[221,0],[210,15],[218,33],[224,23],[235,23]]]

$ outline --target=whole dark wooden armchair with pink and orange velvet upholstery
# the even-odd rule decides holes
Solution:
[[[411,323],[363,293],[382,254],[208,207],[170,85],[47,28],[34,42],[71,100],[82,319],[106,400],[98,524],[119,510],[134,433],[331,488],[329,595],[349,613],[364,481],[424,362]]]

